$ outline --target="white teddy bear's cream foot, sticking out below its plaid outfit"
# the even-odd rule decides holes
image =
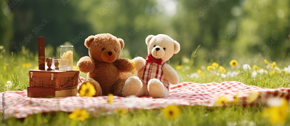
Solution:
[[[169,95],[167,88],[158,79],[151,79],[148,82],[148,92],[153,98],[163,98]]]

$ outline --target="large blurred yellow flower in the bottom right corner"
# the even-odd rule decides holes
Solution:
[[[281,102],[280,105],[269,106],[262,112],[262,116],[268,118],[272,124],[284,123],[289,112],[288,101],[285,98],[278,100]]]

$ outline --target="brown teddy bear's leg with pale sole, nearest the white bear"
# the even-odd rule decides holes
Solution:
[[[129,77],[124,84],[122,95],[124,97],[130,95],[135,95],[137,97],[143,96],[145,93],[143,89],[143,84],[144,82],[142,82],[139,77],[136,76]]]

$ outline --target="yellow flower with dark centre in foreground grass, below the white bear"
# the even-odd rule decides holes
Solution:
[[[176,119],[179,116],[179,108],[175,105],[169,105],[162,110],[164,116],[169,119]]]

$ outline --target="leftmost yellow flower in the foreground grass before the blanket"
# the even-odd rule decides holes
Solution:
[[[85,109],[75,109],[73,113],[68,115],[68,118],[76,120],[76,121],[84,121],[85,119],[89,118],[89,114]]]

